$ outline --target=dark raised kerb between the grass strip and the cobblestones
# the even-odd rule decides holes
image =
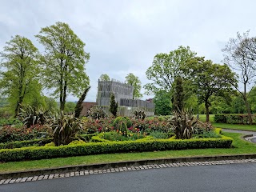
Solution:
[[[78,166],[62,166],[50,169],[38,169],[38,170],[26,170],[0,174],[1,179],[7,178],[24,178],[32,177],[34,175],[46,175],[46,174],[65,174],[67,172],[75,172],[81,170],[98,170],[98,169],[110,169],[124,166],[143,166],[149,164],[166,164],[166,163],[178,163],[178,162],[209,162],[209,161],[222,161],[222,160],[240,160],[240,159],[253,159],[256,158],[256,154],[237,154],[237,155],[214,155],[214,156],[195,156],[185,158],[157,158],[147,159],[130,162],[110,162],[100,163],[93,165],[78,165]]]

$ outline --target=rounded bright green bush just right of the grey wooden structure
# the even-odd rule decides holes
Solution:
[[[170,93],[159,90],[154,96],[155,114],[168,115],[171,113]]]

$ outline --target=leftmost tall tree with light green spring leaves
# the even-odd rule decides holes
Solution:
[[[27,94],[40,89],[38,83],[38,49],[30,39],[16,35],[12,37],[0,53],[0,88],[14,105],[15,116]],[[39,90],[41,91],[41,90]]]

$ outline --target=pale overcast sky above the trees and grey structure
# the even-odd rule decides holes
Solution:
[[[101,74],[124,82],[133,73],[143,86],[154,55],[178,46],[221,63],[222,48],[238,31],[256,36],[255,7],[254,0],[2,0],[0,50],[19,34],[43,52],[34,35],[55,22],[68,23],[90,53],[86,74],[92,88],[86,101],[95,102]]]

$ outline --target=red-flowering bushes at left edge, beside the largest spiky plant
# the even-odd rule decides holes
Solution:
[[[52,130],[49,126],[34,125],[30,128],[3,126],[0,128],[0,142],[24,141],[42,137],[52,137]]]

